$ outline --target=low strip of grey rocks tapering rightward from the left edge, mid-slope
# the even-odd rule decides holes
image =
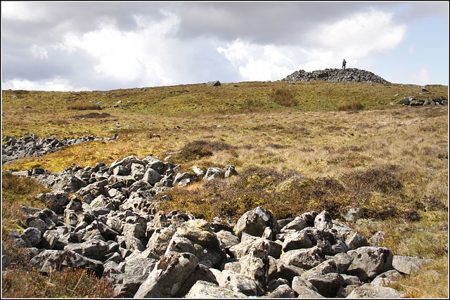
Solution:
[[[84,136],[82,138],[37,138],[35,133],[29,136],[23,136],[16,140],[10,136],[4,136],[3,141],[6,143],[1,145],[1,161],[2,164],[12,162],[22,157],[42,156],[49,152],[55,152],[59,148],[68,145],[76,145],[89,141],[110,141],[115,140],[117,134],[113,138],[96,138],[95,136]]]

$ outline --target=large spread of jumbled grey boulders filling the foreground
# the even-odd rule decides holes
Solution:
[[[86,268],[107,278],[116,296],[136,298],[394,298],[402,294],[383,285],[426,262],[393,255],[378,245],[383,232],[366,240],[327,211],[276,220],[255,207],[237,223],[156,211],[170,201],[162,193],[169,188],[238,176],[233,166],[179,168],[148,155],[53,174],[12,172],[53,191],[37,195],[49,209],[21,207],[25,230],[9,239],[32,254],[30,265],[41,273]],[[350,209],[342,217],[354,221],[362,213]],[[2,261],[6,272],[15,263],[4,253]]]

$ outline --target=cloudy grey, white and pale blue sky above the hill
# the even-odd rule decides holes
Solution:
[[[2,90],[276,81],[343,59],[448,86],[448,1],[1,1]]]

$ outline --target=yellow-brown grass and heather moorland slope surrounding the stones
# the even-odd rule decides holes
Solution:
[[[236,219],[257,205],[278,219],[327,209],[342,220],[342,212],[362,207],[366,219],[350,224],[359,233],[371,237],[383,230],[383,245],[394,254],[436,259],[427,272],[397,288],[411,297],[447,297],[448,106],[399,104],[405,96],[448,98],[447,86],[427,89],[277,81],[146,91],[2,91],[4,136],[19,138],[30,131],[57,138],[119,135],[115,141],[20,159],[3,169],[62,171],[72,163],[94,167],[129,155],[165,159],[177,150],[183,151],[169,161],[185,171],[233,164],[239,176],[174,188],[172,201],[160,208],[184,209],[207,220]],[[274,98],[279,90],[291,95],[288,106]],[[352,105],[356,102],[360,105]],[[356,110],[342,110],[351,107]],[[23,178],[2,180],[5,236],[17,228],[20,204],[37,206],[33,195],[42,187]]]

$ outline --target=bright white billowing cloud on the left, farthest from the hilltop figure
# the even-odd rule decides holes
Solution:
[[[85,51],[94,58],[93,69],[98,77],[124,81],[143,79],[149,85],[172,84],[165,61],[175,51],[171,49],[172,35],[178,30],[179,18],[161,12],[160,22],[147,20],[144,15],[134,15],[139,26],[135,31],[120,31],[114,22],[105,20],[101,28],[82,36],[66,34],[55,48],[68,54]]]

